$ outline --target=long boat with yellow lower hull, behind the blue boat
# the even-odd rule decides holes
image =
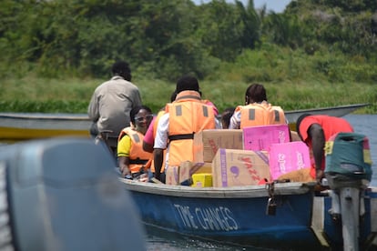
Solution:
[[[339,105],[287,111],[290,128],[305,113],[343,116],[368,104]],[[0,113],[0,141],[20,141],[52,136],[89,136],[91,122],[86,114]]]

